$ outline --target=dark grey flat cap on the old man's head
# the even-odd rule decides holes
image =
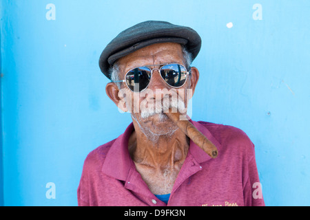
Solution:
[[[123,30],[107,44],[99,58],[101,72],[110,78],[108,71],[118,58],[154,43],[168,42],[184,45],[193,60],[201,47],[200,36],[192,28],[167,21],[144,21]]]

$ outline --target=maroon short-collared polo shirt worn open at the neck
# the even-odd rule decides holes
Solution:
[[[90,152],[77,190],[79,206],[265,206],[254,144],[233,126],[191,122],[218,148],[212,159],[190,142],[168,203],[159,200],[128,152],[130,124],[115,140]]]

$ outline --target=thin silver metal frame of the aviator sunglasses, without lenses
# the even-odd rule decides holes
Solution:
[[[180,63],[161,63],[161,64],[153,64],[153,65],[144,65],[144,66],[141,66],[141,67],[147,67],[148,69],[151,70],[151,78],[149,79],[149,82],[151,82],[152,76],[153,76],[153,71],[154,71],[154,70],[158,70],[158,74],[161,76],[161,68],[163,68],[165,65],[172,65],[172,64],[180,65],[180,66],[184,67],[184,69],[186,70],[186,72],[185,72],[186,78],[185,78],[185,82],[183,83],[183,85],[185,85],[188,76],[191,74],[191,70],[189,69],[189,71],[187,71],[187,68],[186,68],[185,65],[183,65],[183,64],[180,64]],[[157,68],[154,68],[154,69],[149,68],[149,67],[153,67],[153,66],[161,66],[161,67],[160,67],[159,69],[157,69]],[[140,67],[134,67],[134,68],[128,70],[128,71],[126,72],[125,76],[124,76],[125,79],[123,79],[123,80],[116,80],[116,81],[112,81],[112,80],[111,80],[111,83],[125,83],[126,86],[128,87],[128,89],[130,89],[129,85],[127,85],[127,82],[126,82],[126,76],[127,76],[127,74],[128,74],[130,71],[132,71],[132,70],[134,70],[134,69],[136,69],[136,68],[140,68]],[[189,67],[189,68],[190,68],[190,67]],[[164,82],[165,82],[167,85],[169,85],[169,84],[165,81],[165,79],[163,78],[163,76],[161,76],[161,78],[164,80]],[[183,87],[183,85],[181,85],[180,87]],[[147,85],[147,87],[149,87],[149,84]],[[144,91],[145,89],[147,89],[147,87],[145,87],[145,88],[142,89],[141,91],[133,91],[133,92],[142,92],[142,91]],[[174,87],[174,86],[172,86],[172,85],[169,85],[169,87],[172,87],[172,88],[175,88],[175,89],[180,88],[180,87]],[[130,89],[130,91],[132,91],[132,89]]]

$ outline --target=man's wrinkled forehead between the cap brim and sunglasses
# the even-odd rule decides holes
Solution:
[[[120,72],[134,67],[161,63],[183,63],[182,47],[178,43],[156,43],[118,59]]]

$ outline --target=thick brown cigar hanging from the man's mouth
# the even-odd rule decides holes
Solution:
[[[203,133],[198,131],[189,120],[180,120],[180,113],[166,113],[166,115],[178,126],[178,128],[187,135],[197,146],[203,149],[210,157],[218,156],[218,149],[210,142]]]

